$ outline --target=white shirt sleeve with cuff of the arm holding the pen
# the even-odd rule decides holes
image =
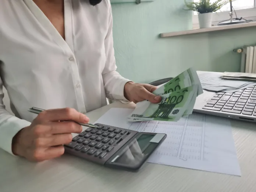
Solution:
[[[13,154],[11,149],[13,137],[22,128],[29,126],[31,122],[21,120],[20,118],[10,114],[5,109],[3,97],[3,82],[0,78],[0,148]]]

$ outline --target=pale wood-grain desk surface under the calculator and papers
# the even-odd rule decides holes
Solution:
[[[135,104],[115,102],[91,111],[87,113],[90,122],[111,107]],[[231,121],[242,177],[152,163],[130,173],[70,155],[31,163],[0,149],[0,192],[255,192],[255,124]]]

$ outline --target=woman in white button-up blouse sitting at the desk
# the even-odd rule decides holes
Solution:
[[[160,102],[156,89],[118,74],[109,0],[1,0],[0,147],[28,160],[64,152],[84,113],[122,102]],[[3,105],[2,85],[11,109]],[[38,116],[30,107],[46,110]],[[62,121],[62,122],[60,122]],[[63,122],[65,121],[65,122]],[[31,123],[32,122],[32,123]]]

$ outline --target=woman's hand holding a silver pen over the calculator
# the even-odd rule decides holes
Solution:
[[[42,111],[14,136],[13,153],[31,161],[59,157],[64,153],[63,145],[72,141],[71,133],[82,132],[76,122],[88,123],[89,118],[71,108]]]

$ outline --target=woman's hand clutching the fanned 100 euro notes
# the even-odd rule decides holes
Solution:
[[[159,103],[161,101],[161,97],[152,93],[156,89],[156,86],[149,84],[127,82],[124,86],[124,96],[126,99],[134,103],[138,103],[145,99],[151,103]]]

